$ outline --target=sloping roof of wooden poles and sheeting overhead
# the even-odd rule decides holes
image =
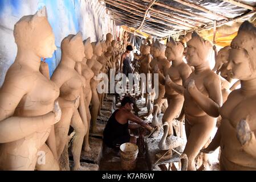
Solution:
[[[103,0],[101,0],[103,1]],[[256,0],[104,0],[112,19],[158,38],[252,16]]]

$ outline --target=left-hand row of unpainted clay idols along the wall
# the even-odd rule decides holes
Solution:
[[[90,152],[90,120],[99,110],[96,76],[106,72],[108,39],[90,43],[90,39],[83,42],[80,33],[68,35],[50,80],[47,65],[40,61],[56,50],[45,7],[23,16],[15,24],[14,38],[17,57],[0,89],[0,169],[58,170],[72,126],[74,169],[78,170],[83,142],[83,150]]]

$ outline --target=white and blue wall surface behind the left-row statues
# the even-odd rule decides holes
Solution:
[[[14,42],[14,24],[25,15],[35,14],[46,6],[48,21],[55,34],[55,44],[58,50],[46,62],[50,75],[59,64],[60,43],[69,34],[82,32],[83,38],[91,37],[92,42],[107,34],[111,24],[104,7],[98,1],[92,0],[5,0],[0,1],[0,85],[2,85],[7,69],[13,64],[17,55]],[[103,12],[103,13],[102,13]],[[89,14],[93,17],[88,18]]]

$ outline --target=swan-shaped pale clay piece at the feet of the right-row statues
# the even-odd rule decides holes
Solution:
[[[164,122],[164,134],[159,142],[160,150],[169,150],[170,148],[177,148],[179,146],[185,145],[185,142],[182,138],[176,137],[174,135],[168,135],[169,124]]]

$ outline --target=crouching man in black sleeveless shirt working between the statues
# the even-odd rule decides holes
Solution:
[[[149,131],[153,130],[147,122],[131,113],[132,106],[133,100],[131,96],[125,96],[121,101],[120,109],[117,109],[108,119],[103,133],[103,141],[108,147],[116,148],[127,142],[136,144],[137,139],[129,134],[129,129],[136,129],[143,126]],[[135,123],[129,123],[129,121]]]

